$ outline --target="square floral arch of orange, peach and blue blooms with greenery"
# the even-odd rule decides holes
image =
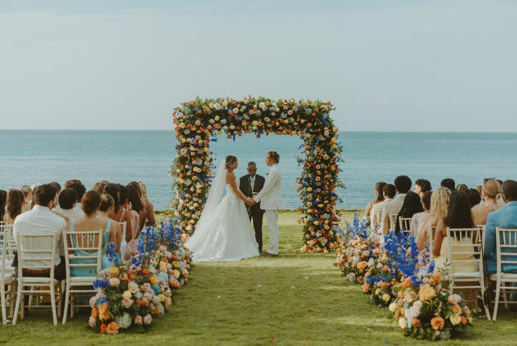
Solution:
[[[302,251],[327,252],[337,248],[340,229],[334,206],[340,201],[336,187],[344,187],[338,178],[341,146],[337,143],[338,129],[329,117],[335,109],[330,102],[294,101],[285,99],[231,98],[184,102],[174,108],[174,124],[178,144],[170,176],[174,178],[172,190],[176,198],[171,202],[170,216],[174,227],[187,239],[193,232],[203,210],[210,188],[213,159],[210,141],[217,135],[226,138],[243,133],[261,135],[296,135],[304,141],[305,158],[298,156],[303,166],[299,185],[305,217],[302,224]]]

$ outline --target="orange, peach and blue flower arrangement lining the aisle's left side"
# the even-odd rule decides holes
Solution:
[[[192,257],[170,225],[165,219],[160,233],[144,229],[138,254],[99,273],[88,321],[96,331],[116,334],[135,325],[147,328],[172,305],[173,291],[188,281]]]

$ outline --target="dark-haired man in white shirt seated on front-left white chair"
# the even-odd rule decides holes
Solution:
[[[56,280],[63,280],[66,277],[66,266],[62,235],[63,229],[66,227],[66,222],[65,219],[55,215],[50,211],[52,208],[54,208],[55,196],[56,189],[50,184],[43,184],[36,187],[34,189],[34,208],[19,215],[16,220],[14,220],[13,233],[15,239],[19,234],[56,234],[57,242],[54,258],[54,264],[56,265],[56,268],[54,270],[54,278]],[[42,257],[46,258],[47,256],[48,255],[43,254]],[[14,258],[12,265],[14,267],[18,266],[17,257]],[[41,260],[42,267],[49,265],[50,261]],[[50,269],[44,271],[23,270],[23,276],[48,277],[49,274]]]

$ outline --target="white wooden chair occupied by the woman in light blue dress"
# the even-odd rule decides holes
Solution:
[[[66,264],[66,290],[63,324],[66,323],[68,305],[70,317],[73,317],[74,307],[89,306],[89,304],[74,304],[74,297],[92,296],[97,293],[93,283],[101,270],[103,230],[71,232],[63,231]],[[87,269],[91,276],[72,276],[73,270]]]

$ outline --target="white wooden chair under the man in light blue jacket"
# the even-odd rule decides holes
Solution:
[[[490,281],[495,281],[495,305],[493,321],[497,318],[497,307],[499,303],[517,304],[508,299],[508,293],[517,293],[517,287],[512,286],[517,282],[517,274],[505,273],[503,265],[517,266],[517,229],[499,228],[495,229],[495,246],[497,251],[497,272],[489,276]],[[509,286],[501,286],[501,284]],[[503,293],[503,301],[499,295]]]

